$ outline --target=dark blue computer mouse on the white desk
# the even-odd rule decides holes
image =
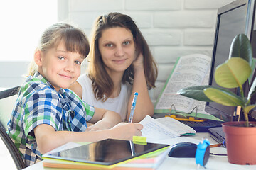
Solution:
[[[173,145],[169,157],[196,157],[197,145],[191,142],[181,142]]]

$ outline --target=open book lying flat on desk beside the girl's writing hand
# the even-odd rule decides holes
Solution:
[[[170,117],[154,119],[146,115],[139,123],[143,125],[142,136],[146,137],[146,142],[196,134],[193,128]]]

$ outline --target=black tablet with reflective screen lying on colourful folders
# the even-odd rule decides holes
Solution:
[[[107,139],[60,152],[43,154],[43,158],[110,166],[168,147],[169,145],[164,144]]]

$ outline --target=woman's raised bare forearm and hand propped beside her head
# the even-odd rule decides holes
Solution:
[[[132,86],[132,94],[129,98],[127,106],[127,120],[131,113],[132,99],[135,92],[138,92],[137,103],[134,110],[133,122],[139,122],[146,115],[154,114],[154,106],[149,97],[149,91],[146,86],[146,77],[144,74],[143,55],[139,54],[137,59],[132,63],[134,66],[134,82]]]

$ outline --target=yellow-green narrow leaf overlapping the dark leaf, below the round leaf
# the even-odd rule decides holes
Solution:
[[[225,106],[245,106],[245,102],[240,96],[235,95],[232,91],[216,87],[204,89],[204,94],[210,100]]]

